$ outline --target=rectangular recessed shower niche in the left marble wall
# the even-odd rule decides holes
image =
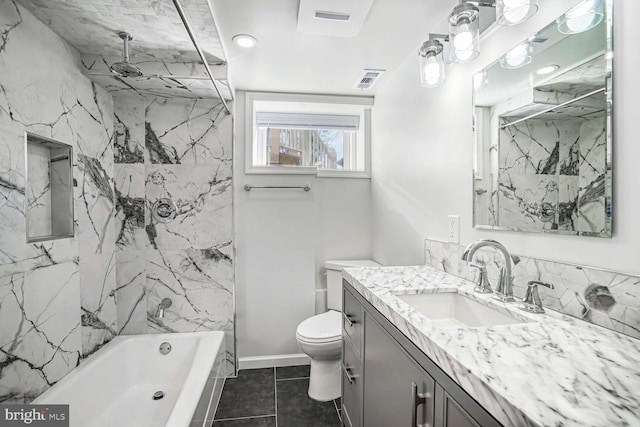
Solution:
[[[73,148],[25,132],[27,243],[73,237]]]

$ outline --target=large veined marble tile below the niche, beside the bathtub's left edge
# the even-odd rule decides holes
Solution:
[[[78,365],[79,295],[72,262],[0,278],[0,403],[28,403]]]

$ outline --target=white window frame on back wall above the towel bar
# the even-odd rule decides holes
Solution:
[[[301,102],[314,104],[337,104],[361,107],[364,121],[364,170],[344,171],[320,169],[313,166],[254,166],[253,150],[257,129],[255,129],[255,102]],[[247,175],[316,175],[324,178],[371,178],[371,107],[374,99],[363,96],[311,95],[275,92],[245,93],[245,165]]]

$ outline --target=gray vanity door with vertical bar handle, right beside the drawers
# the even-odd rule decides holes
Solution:
[[[435,381],[372,317],[365,316],[364,425],[432,426]]]

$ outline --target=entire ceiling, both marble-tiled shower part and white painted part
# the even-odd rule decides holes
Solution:
[[[18,1],[76,47],[82,53],[85,73],[111,92],[216,96],[206,80],[150,77],[205,76],[171,0]],[[305,1],[326,5],[360,0]],[[300,0],[181,3],[207,62],[216,68],[214,74],[221,80],[223,94],[229,98],[230,83],[244,90],[373,96],[402,62],[417,55],[430,32],[447,32],[448,14],[458,0],[373,0],[362,28],[352,37],[298,31]],[[490,8],[481,8],[481,14],[483,9]],[[142,69],[144,78],[110,75],[108,65],[122,60],[119,31],[133,34],[131,62]],[[240,33],[256,37],[258,46],[245,50],[234,45],[231,39]],[[387,73],[363,91],[354,86],[364,69]]]

